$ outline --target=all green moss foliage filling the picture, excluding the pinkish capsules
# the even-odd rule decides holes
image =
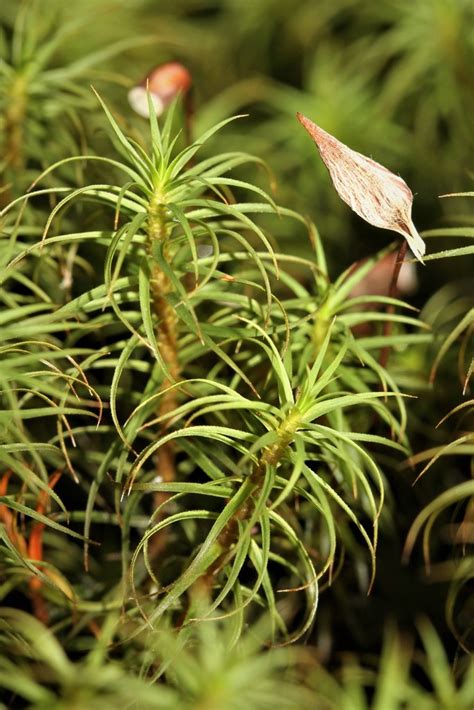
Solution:
[[[162,3],[152,38],[199,64],[190,141],[179,97],[148,126],[125,108],[154,3],[2,9],[2,701],[467,709],[472,288],[430,285],[421,313],[367,288],[396,244],[363,259],[294,112],[406,170],[431,209],[440,176],[464,182],[469,7],[198,5]],[[85,33],[91,8],[113,21]],[[270,51],[282,25],[297,86]],[[427,273],[467,263],[451,245],[471,223],[423,232],[442,240]],[[379,663],[340,638],[370,635],[354,610],[387,604],[386,546],[396,574],[421,531],[454,670],[426,619],[414,642],[387,628]]]

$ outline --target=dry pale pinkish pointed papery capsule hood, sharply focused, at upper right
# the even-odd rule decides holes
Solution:
[[[296,114],[316,143],[339,197],[374,227],[402,234],[423,262],[425,243],[411,218],[413,193],[404,180],[375,160],[348,148],[301,113]]]

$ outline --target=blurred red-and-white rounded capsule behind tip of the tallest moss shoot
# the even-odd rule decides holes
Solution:
[[[160,116],[178,94],[189,91],[191,83],[191,74],[179,62],[160,64],[128,92],[128,102],[136,113],[148,118],[148,89],[156,115]]]

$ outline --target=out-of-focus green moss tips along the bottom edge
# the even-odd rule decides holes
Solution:
[[[106,645],[118,628],[110,616],[105,633],[83,660],[71,661],[54,635],[36,619],[15,609],[0,612],[0,645],[9,659],[0,660],[0,679],[17,699],[40,710],[99,703],[104,708],[316,707],[396,710],[468,710],[474,690],[472,662],[455,674],[439,638],[426,619],[418,623],[423,651],[390,628],[377,663],[347,659],[330,676],[310,648],[273,648],[262,653],[265,626],[250,627],[239,639],[229,620],[201,623],[181,631],[148,633],[133,648],[135,674],[106,660]],[[104,638],[105,637],[105,638]],[[83,635],[76,636],[80,647]],[[413,680],[410,671],[430,678],[431,687]],[[146,678],[153,680],[147,682]]]

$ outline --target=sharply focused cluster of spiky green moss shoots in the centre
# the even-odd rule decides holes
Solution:
[[[137,586],[143,585],[149,574],[158,583],[148,554],[151,538],[171,525],[173,531],[185,525],[187,536],[191,535],[188,554],[192,550],[198,552],[188,562],[185,556],[178,563],[178,576],[171,587],[167,581],[160,603],[156,606],[151,602],[151,620],[175,606],[211,565],[218,564],[219,570],[223,569],[222,579],[217,577],[217,571],[214,573],[216,582],[219,580],[216,608],[227,604],[229,597],[242,600],[232,605],[236,611],[266,599],[276,627],[284,628],[267,579],[266,568],[271,559],[281,566],[287,584],[291,580],[292,586],[306,589],[307,617],[297,632],[303,633],[316,610],[317,581],[331,574],[334,566],[339,527],[347,528],[352,523],[359,530],[371,558],[370,576],[375,573],[384,482],[367,447],[386,445],[404,451],[396,441],[364,431],[367,424],[362,425],[362,430],[352,430],[346,415],[346,410],[365,407],[403,439],[406,415],[398,389],[370,354],[371,338],[367,338],[366,347],[362,348],[351,336],[350,326],[360,322],[353,311],[354,302],[342,305],[351,287],[374,262],[369,261],[356,276],[343,276],[333,287],[325,282],[319,307],[315,294],[317,281],[310,291],[288,281],[290,292],[279,297],[274,291],[275,276],[280,271],[283,274],[285,259],[281,257],[282,264],[278,263],[279,255],[250,215],[273,212],[280,219],[297,215],[277,207],[260,189],[225,177],[248,157],[234,152],[189,167],[191,158],[219,127],[173,155],[172,112],[163,129],[156,119],[151,120],[152,152],[146,154],[125,137],[108,109],[105,106],[104,109],[116,148],[126,162],[112,159],[102,162],[119,169],[127,181],[66,190],[34,189],[28,195],[31,201],[45,193],[58,195],[43,238],[34,250],[40,261],[44,261],[50,246],[56,248],[72,240],[85,246],[94,240],[107,247],[103,251],[102,285],[77,295],[62,307],[51,309],[46,304],[46,312],[39,315],[37,308],[30,314],[31,306],[22,305],[18,312],[12,313],[15,321],[21,321],[19,331],[17,326],[9,330],[8,323],[4,328],[5,342],[11,339],[6,362],[15,368],[11,379],[16,385],[6,390],[13,415],[7,425],[8,440],[15,442],[20,436],[25,440],[24,450],[15,450],[16,457],[9,450],[6,455],[14,459],[12,466],[21,475],[28,466],[25,452],[29,458],[36,454],[36,437],[30,433],[28,422],[38,417],[46,422],[49,416],[56,420],[56,431],[51,431],[47,439],[55,466],[66,466],[78,483],[85,477],[94,481],[85,511],[86,540],[90,537],[101,487],[110,487],[104,473],[107,471],[110,476],[114,471],[115,514],[124,516],[126,521],[122,531],[125,575],[122,594],[125,595],[132,552],[129,540],[132,511],[136,514],[140,500],[146,500],[153,492],[167,494],[130,560],[137,601]],[[229,202],[224,196],[229,187],[257,192],[266,201]],[[71,209],[75,201],[83,199],[109,207],[111,217],[115,213],[117,228],[107,233],[94,230],[50,236],[66,207]],[[7,211],[22,201],[11,203]],[[314,232],[314,227],[310,229]],[[8,281],[13,280],[15,270],[31,251],[21,239],[13,242],[14,235],[12,232],[10,243],[16,256],[5,271]],[[256,251],[252,241],[257,246],[260,242],[266,252]],[[202,259],[198,249],[206,244],[210,244],[213,253]],[[226,246],[226,252],[221,251],[221,244]],[[234,244],[237,252],[233,251]],[[319,272],[312,268],[310,273],[318,273],[321,280],[324,268],[322,260]],[[71,278],[74,279],[74,274]],[[191,284],[188,290],[184,287],[185,279]],[[53,301],[52,295],[48,294],[47,299]],[[172,323],[176,329],[174,353],[170,353],[170,342],[162,338],[163,330],[171,328],[166,320],[169,304],[177,319]],[[348,313],[347,307],[351,309]],[[302,314],[306,314],[303,319]],[[385,318],[416,325],[416,321],[406,316],[363,312],[361,317],[370,320],[371,315],[375,320]],[[69,337],[66,333],[71,326],[72,337]],[[54,333],[55,340],[64,333],[63,348],[58,351],[55,340],[26,341],[35,327],[41,327],[43,333]],[[103,347],[102,352],[78,348],[84,340],[84,329],[94,339],[102,338],[104,343],[110,338],[108,334],[113,333],[115,342]],[[203,353],[211,373],[207,376],[200,371]],[[78,356],[80,363],[76,362]],[[179,357],[179,375],[173,359],[176,357]],[[59,369],[60,358],[70,362],[64,373]],[[41,363],[39,369],[33,373],[27,369],[20,375],[20,363],[25,362],[29,368],[35,360]],[[361,363],[366,365],[364,371],[360,369]],[[103,385],[92,384],[91,368],[94,381],[97,371],[107,368],[111,372],[108,401],[104,401]],[[142,397],[133,401],[125,396],[124,380],[133,382],[137,369],[147,381]],[[229,375],[231,387],[226,384]],[[10,379],[8,371],[4,376]],[[377,382],[383,385],[382,391],[371,391]],[[401,419],[388,406],[388,385],[395,388],[393,395]],[[174,407],[163,410],[161,403],[169,400],[170,395]],[[88,417],[93,417],[96,424],[89,424]],[[82,453],[78,457],[79,452],[71,449],[70,443],[74,446],[76,437],[86,432],[88,437],[95,438],[94,427],[107,447],[97,450],[94,463],[87,462],[86,473]],[[115,441],[110,439],[114,429]],[[157,431],[162,432],[158,438]],[[200,453],[199,442],[206,439],[213,440],[213,450]],[[180,468],[191,473],[189,483],[155,480],[153,458],[156,454],[159,457],[160,449],[171,442],[174,448],[178,447]],[[58,456],[63,457],[62,464],[56,463],[54,457]],[[191,461],[198,464],[194,472],[190,470]],[[198,471],[203,478],[196,479]],[[43,467],[43,487],[45,481],[47,473]],[[32,493],[38,492],[40,480],[28,476],[27,485]],[[195,512],[190,508],[189,496],[196,503],[199,501]],[[295,498],[305,501],[305,516],[315,516],[314,524],[326,540],[323,543],[326,554],[317,570],[301,544],[304,540],[301,522],[298,517],[291,522],[288,519]],[[206,505],[211,508],[206,510]],[[174,512],[160,520],[163,506]],[[334,506],[343,514],[337,521]],[[244,508],[247,512],[240,520]],[[34,511],[31,515],[34,519]],[[212,527],[203,536],[208,523],[199,521],[206,520],[212,521]],[[232,533],[229,555],[224,540],[227,541],[229,530],[237,521],[238,530]],[[254,528],[259,530],[258,534],[252,533]],[[174,539],[177,533],[167,534]],[[347,534],[348,529],[344,535]],[[256,575],[250,588],[240,582],[243,574],[248,577],[249,567]],[[159,582],[159,587],[162,585]],[[79,601],[77,593],[73,596]],[[150,607],[150,603],[146,606]],[[141,609],[145,613],[143,604]]]

